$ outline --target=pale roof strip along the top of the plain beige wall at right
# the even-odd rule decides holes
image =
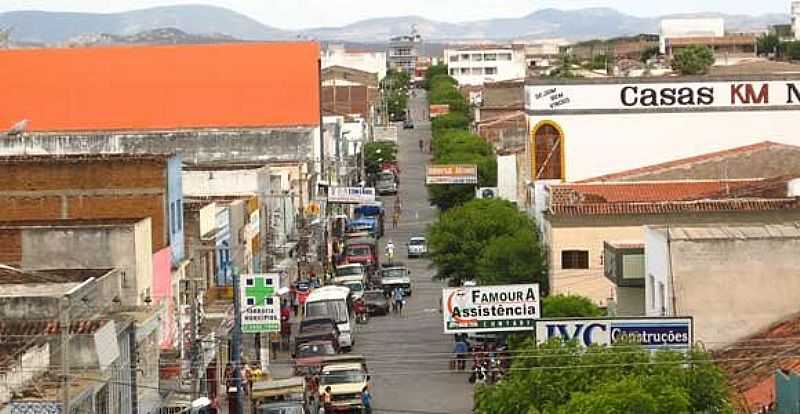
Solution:
[[[800,239],[800,222],[762,225],[654,226],[673,241]]]

